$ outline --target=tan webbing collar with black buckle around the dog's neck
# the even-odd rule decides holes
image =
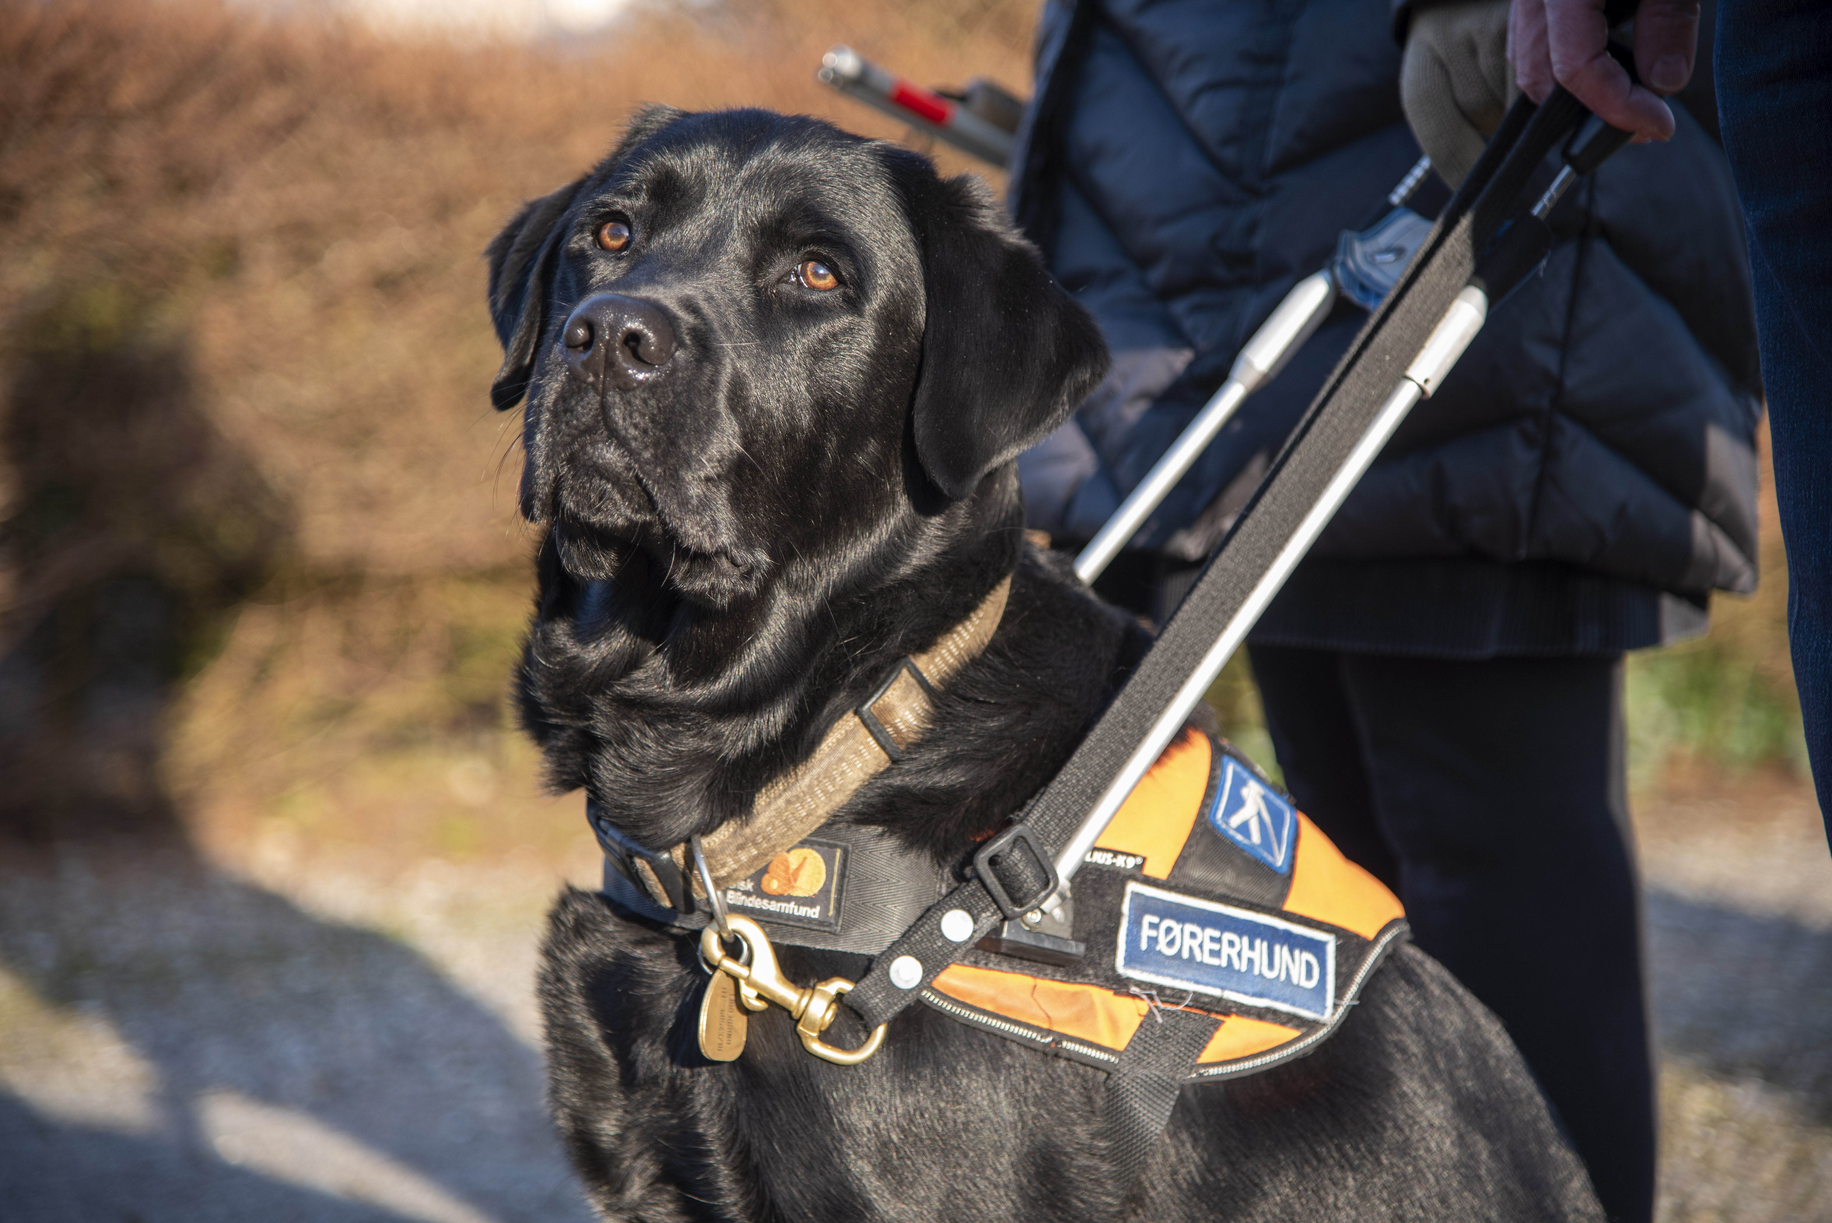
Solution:
[[[804,765],[757,793],[749,820],[729,820],[700,839],[713,882],[738,882],[769,866],[771,859],[821,828],[865,782],[903,758],[929,731],[934,694],[962,666],[986,650],[1011,595],[1011,575],[993,588],[965,621],[921,654],[903,659],[890,679],[856,710],[828,729]],[[703,895],[687,846],[667,851],[694,895]],[[632,862],[656,903],[672,906],[649,862]]]

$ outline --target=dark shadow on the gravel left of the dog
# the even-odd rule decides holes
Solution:
[[[496,1014],[183,846],[134,857],[0,884],[9,1218],[584,1218]]]

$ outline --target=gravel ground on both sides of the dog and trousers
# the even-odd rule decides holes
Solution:
[[[1662,1219],[1832,1219],[1832,859],[1797,787],[1643,802]],[[566,862],[0,857],[5,1219],[586,1219],[529,998]]]

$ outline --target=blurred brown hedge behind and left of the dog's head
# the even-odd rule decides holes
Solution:
[[[898,137],[815,82],[830,44],[1022,92],[1031,20],[780,0],[454,46],[0,0],[0,826],[176,796],[324,835],[412,807],[484,848],[531,796],[484,244],[641,103]]]

